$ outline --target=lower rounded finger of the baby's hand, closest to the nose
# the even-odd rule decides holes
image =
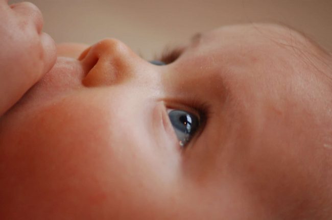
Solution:
[[[53,38],[50,35],[42,33],[40,37],[41,45],[43,47],[42,60],[44,63],[42,74],[45,74],[46,72],[51,70],[57,60],[57,47]]]

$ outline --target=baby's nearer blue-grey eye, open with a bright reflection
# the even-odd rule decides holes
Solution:
[[[183,110],[171,109],[168,115],[179,143],[184,147],[199,129],[200,119],[195,114]]]

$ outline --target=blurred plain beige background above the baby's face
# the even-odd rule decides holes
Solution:
[[[10,1],[12,3],[19,1]],[[165,45],[231,23],[290,25],[332,51],[332,0],[31,0],[56,42],[124,41],[151,59]]]

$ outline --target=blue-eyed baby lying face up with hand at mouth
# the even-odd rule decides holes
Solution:
[[[148,62],[57,50],[29,3],[0,20],[0,219],[332,218],[332,58],[302,34],[222,27]]]

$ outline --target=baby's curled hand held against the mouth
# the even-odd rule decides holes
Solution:
[[[42,26],[35,5],[0,0],[0,116],[56,61],[55,43]]]

